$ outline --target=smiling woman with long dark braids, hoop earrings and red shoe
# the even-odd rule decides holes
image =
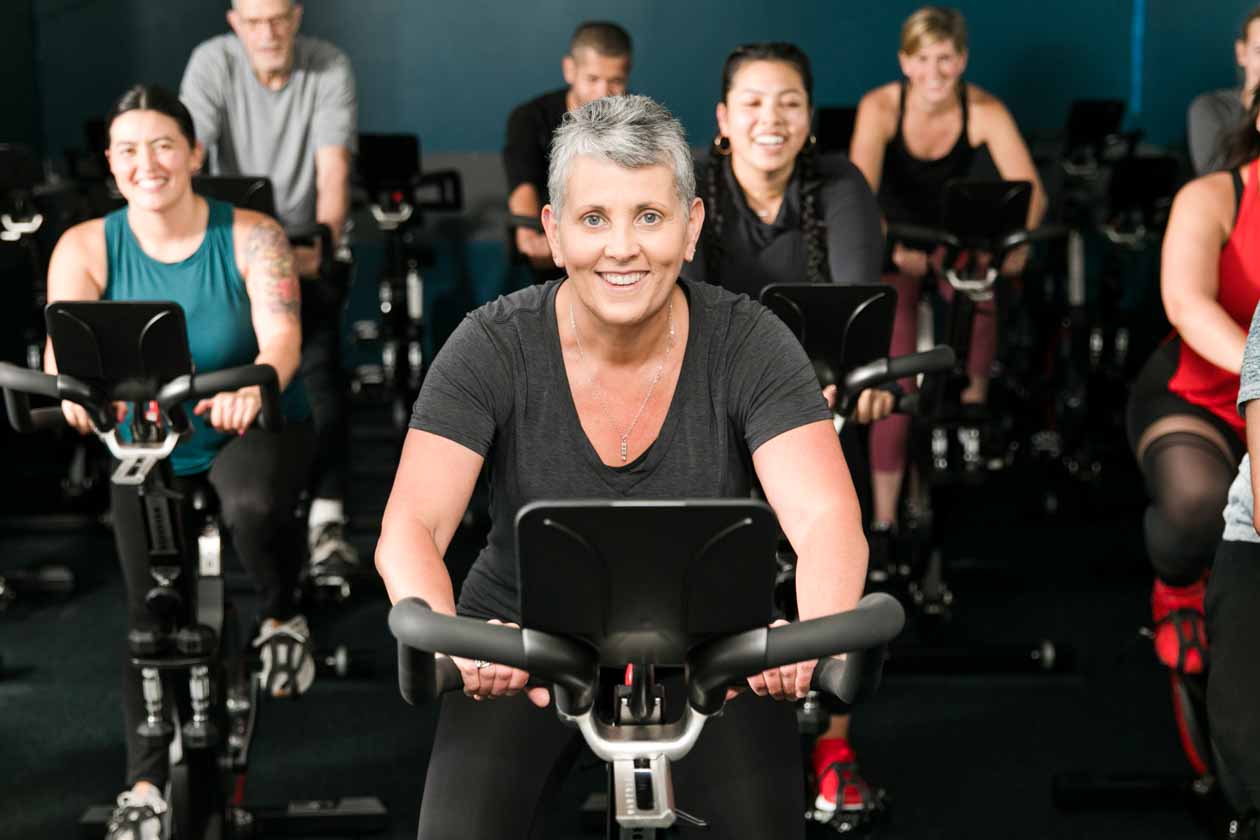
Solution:
[[[697,181],[704,228],[692,280],[745,292],[770,283],[879,282],[879,209],[862,173],[843,156],[822,157],[810,133],[814,78],[793,44],[746,44],[722,67],[718,135]],[[871,390],[857,419],[888,414],[892,397]],[[857,772],[847,715],[832,719],[814,749],[815,811],[866,811],[872,795]]]

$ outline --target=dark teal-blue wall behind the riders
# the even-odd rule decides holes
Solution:
[[[835,0],[312,0],[304,29],[350,55],[364,131],[408,131],[432,151],[488,151],[517,102],[562,84],[575,23],[606,18],[636,42],[634,88],[669,105],[697,145],[713,131],[722,58],[737,43],[784,39],[813,58],[820,105],[854,103],[897,74],[901,20],[919,4]],[[1230,42],[1251,0],[1050,0],[960,4],[971,29],[969,78],[1002,97],[1026,133],[1063,123],[1072,99],[1130,98],[1133,26],[1145,30],[1137,127],[1179,144],[1194,93],[1234,81]],[[10,0],[0,26],[11,65],[5,135],[57,154],[81,145],[86,116],[127,84],[178,84],[189,50],[226,31],[222,0]],[[33,20],[32,20],[33,19]],[[33,25],[28,25],[33,24]],[[33,37],[32,37],[33,30]],[[38,91],[38,121],[30,126]],[[10,121],[9,113],[15,115]]]

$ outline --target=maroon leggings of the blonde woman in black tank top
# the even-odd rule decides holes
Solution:
[[[901,356],[914,353],[919,341],[919,296],[924,280],[892,273],[885,275],[883,282],[892,283],[897,290],[897,317],[892,324],[892,346],[888,354]],[[945,280],[939,281],[937,288],[946,301],[954,300],[954,288]],[[971,324],[968,373],[973,377],[988,377],[997,351],[998,320],[994,317],[993,301],[978,304],[975,320]],[[915,389],[915,380],[902,379],[901,387],[908,393]],[[905,414],[892,414],[872,426],[871,468],[876,472],[901,472],[906,467],[908,434],[910,418]]]

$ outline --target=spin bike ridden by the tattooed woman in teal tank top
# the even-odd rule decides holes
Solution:
[[[145,604],[152,626],[127,633],[145,700],[139,732],[170,744],[171,835],[218,840],[299,829],[304,835],[383,830],[388,817],[374,797],[273,809],[242,802],[260,685],[239,652],[241,627],[224,596],[213,494],[208,486],[176,492],[166,458],[189,428],[188,400],[222,390],[260,385],[260,427],[280,428],[275,370],[194,372],[176,304],[59,301],[47,307],[45,319],[59,373],[0,363],[5,408],[18,432],[32,432],[66,421],[59,406],[33,411],[30,395],[82,406],[117,460],[111,481],[129,501],[116,505],[115,526],[140,535],[151,583]],[[117,402],[132,406],[126,429],[115,419]],[[84,835],[101,836],[110,811],[89,809],[79,821]]]

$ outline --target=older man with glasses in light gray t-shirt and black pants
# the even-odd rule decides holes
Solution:
[[[358,105],[350,62],[336,47],[297,34],[302,8],[292,0],[233,0],[234,34],[193,50],[180,98],[193,115],[210,170],[266,175],[290,230],[328,225],[334,246],[350,207],[350,157]],[[345,542],[349,484],[349,406],[340,358],[344,285],[315,280],[319,247],[295,249],[302,283],[302,366],[319,453],[315,463],[311,572],[335,577],[358,558]]]

